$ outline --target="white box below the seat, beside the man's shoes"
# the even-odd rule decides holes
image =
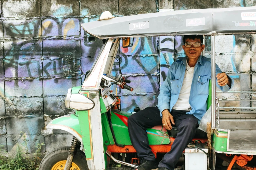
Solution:
[[[196,144],[208,154],[206,144]],[[207,170],[208,157],[198,148],[185,148],[185,170]]]

